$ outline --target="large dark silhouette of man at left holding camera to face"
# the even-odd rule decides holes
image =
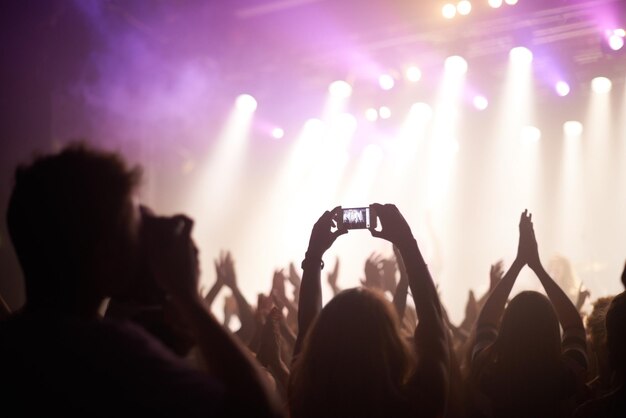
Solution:
[[[19,167],[7,221],[26,305],[0,323],[2,409],[17,416],[276,416],[262,372],[198,294],[192,222],[141,216],[140,180],[116,154],[76,145]],[[139,254],[211,374],[130,322],[100,318]]]

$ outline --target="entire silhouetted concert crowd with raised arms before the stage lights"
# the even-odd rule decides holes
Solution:
[[[515,260],[491,266],[455,326],[394,205],[369,208],[394,256],[368,258],[360,287],[324,264],[348,232],[337,207],[253,306],[230,252],[201,294],[193,221],[141,206],[140,181],[82,144],[17,168],[7,225],[26,304],[0,304],[3,416],[626,417],[626,295],[583,314],[589,293],[572,302],[546,271],[528,211]],[[509,299],[525,267],[545,295]]]

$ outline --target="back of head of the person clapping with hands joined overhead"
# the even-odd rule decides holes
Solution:
[[[520,371],[531,372],[558,362],[559,321],[547,297],[525,291],[509,302],[500,324],[496,351],[502,366]]]

